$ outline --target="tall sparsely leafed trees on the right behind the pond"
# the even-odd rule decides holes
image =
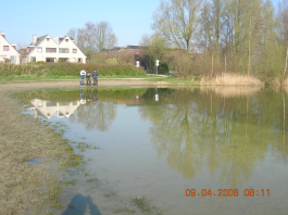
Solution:
[[[143,63],[160,59],[180,76],[236,73],[285,78],[288,4],[271,0],[162,0],[154,34],[143,35]]]

